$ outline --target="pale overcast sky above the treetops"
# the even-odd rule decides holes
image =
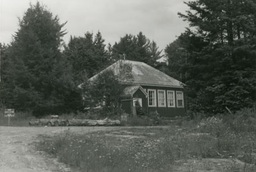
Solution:
[[[188,1],[188,0],[183,0]],[[188,10],[182,0],[41,0],[61,22],[67,21],[64,37],[102,33],[107,43],[115,43],[128,34],[143,34],[163,49],[175,40],[188,24],[177,13]],[[29,3],[36,0],[0,0],[0,42],[10,43]]]

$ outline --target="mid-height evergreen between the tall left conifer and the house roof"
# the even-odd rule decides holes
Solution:
[[[105,49],[104,39],[97,32],[86,32],[84,37],[71,37],[65,47],[64,54],[72,64],[72,71],[77,84],[83,82],[84,76],[89,78],[104,69],[109,64],[109,53]]]

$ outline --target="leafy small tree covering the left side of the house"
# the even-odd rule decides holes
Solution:
[[[132,81],[132,65],[123,60],[113,64],[81,85],[84,104],[87,108],[100,106],[107,112],[118,113],[124,86],[122,81]]]

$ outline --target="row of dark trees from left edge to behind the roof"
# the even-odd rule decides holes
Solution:
[[[6,108],[35,115],[83,110],[79,84],[118,59],[154,65],[161,57],[156,42],[142,32],[127,34],[113,46],[99,31],[71,36],[63,45],[65,24],[44,5],[31,4],[10,45],[1,44],[1,104]]]

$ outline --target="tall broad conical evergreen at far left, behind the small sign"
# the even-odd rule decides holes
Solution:
[[[6,106],[35,115],[74,108],[70,102],[75,100],[67,97],[77,90],[60,52],[64,25],[45,6],[30,4],[8,48],[1,97]]]

